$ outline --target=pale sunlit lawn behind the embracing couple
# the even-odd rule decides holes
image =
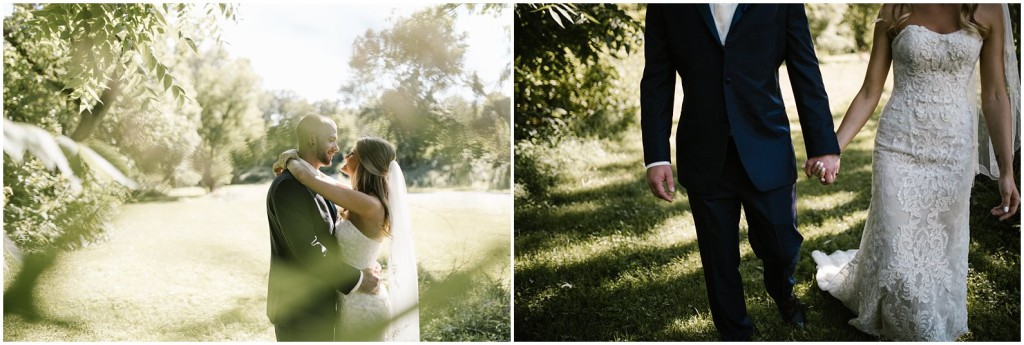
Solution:
[[[273,341],[265,314],[267,187],[232,185],[123,207],[109,241],[63,254],[44,273],[44,319],[4,316],[4,341]],[[425,303],[423,338],[508,340],[508,326],[466,332],[459,316],[508,324],[510,196],[438,191],[410,199],[421,281],[429,286],[476,269],[481,282],[461,305]],[[493,261],[504,264],[476,268],[495,248],[505,254]]]

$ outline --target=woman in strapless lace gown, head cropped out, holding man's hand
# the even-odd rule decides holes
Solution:
[[[879,16],[863,86],[837,131],[845,148],[878,105],[892,63],[871,204],[859,251],[812,253],[816,278],[857,314],[850,325],[862,332],[952,341],[968,332],[968,212],[979,159],[981,171],[998,178],[1002,203],[991,214],[1005,220],[1020,204],[1013,167],[1020,80],[1009,12],[1006,4],[886,4]],[[969,95],[977,93],[977,62],[987,131]]]

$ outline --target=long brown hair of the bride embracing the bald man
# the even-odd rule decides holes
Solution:
[[[355,167],[352,188],[371,195],[380,200],[384,207],[384,221],[381,227],[384,234],[391,235],[391,210],[388,208],[387,174],[391,161],[396,153],[390,142],[375,136],[368,136],[355,141],[354,152],[359,155],[359,164]]]

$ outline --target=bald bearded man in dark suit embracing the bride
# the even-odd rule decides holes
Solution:
[[[334,121],[311,115],[295,130],[299,157],[319,169],[338,153]],[[270,275],[266,315],[278,341],[333,341],[337,293],[372,293],[379,272],[360,271],[342,262],[334,238],[338,211],[285,170],[266,196],[270,222]]]

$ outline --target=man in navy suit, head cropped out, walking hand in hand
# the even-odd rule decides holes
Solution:
[[[647,184],[671,202],[673,94],[682,80],[676,128],[680,182],[687,190],[715,328],[750,340],[739,276],[739,210],[764,262],[764,284],[782,318],[798,328],[793,294],[803,236],[797,231],[797,163],[778,86],[784,61],[810,167],[835,180],[839,144],[802,4],[649,4],[640,83]]]

